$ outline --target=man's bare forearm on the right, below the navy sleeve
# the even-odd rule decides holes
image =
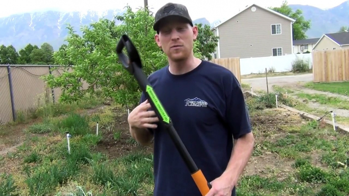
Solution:
[[[254,147],[254,137],[249,133],[242,138],[235,140],[230,160],[223,175],[236,185],[241,173],[244,171],[248,160],[251,157]]]

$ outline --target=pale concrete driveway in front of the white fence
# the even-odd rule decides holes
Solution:
[[[272,91],[273,85],[277,86],[296,86],[299,82],[313,81],[313,74],[304,74],[297,76],[275,76],[268,77],[269,91]],[[241,83],[249,84],[253,90],[267,91],[267,80],[264,78],[242,79]]]

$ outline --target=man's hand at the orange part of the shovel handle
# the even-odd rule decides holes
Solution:
[[[211,182],[212,188],[205,196],[231,196],[235,184],[235,180],[223,174]]]

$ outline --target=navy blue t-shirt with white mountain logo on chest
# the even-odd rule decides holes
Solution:
[[[173,75],[168,66],[149,76],[149,82],[172,120],[178,135],[208,182],[227,167],[238,139],[251,132],[241,86],[229,70],[203,60],[194,70]],[[146,97],[142,93],[140,102]],[[155,196],[201,196],[168,133],[154,133]],[[232,191],[234,196],[235,188]]]

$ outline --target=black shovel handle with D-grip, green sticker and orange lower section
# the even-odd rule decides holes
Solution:
[[[123,53],[124,48],[126,48],[128,56]],[[188,167],[199,191],[202,195],[206,195],[211,188],[211,184],[206,180],[202,171],[197,168],[193,158],[190,156],[187,148],[183,144],[175,127],[173,127],[170,117],[168,116],[165,108],[162,106],[160,100],[158,99],[158,96],[155,93],[152,85],[148,81],[146,74],[144,74],[144,72],[142,71],[142,63],[138,51],[127,35],[123,35],[121,37],[116,51],[119,56],[119,60],[123,64],[124,68],[134,76],[141,90],[146,94],[146,97],[152,108],[154,109],[156,116],[159,118],[159,123],[161,123],[167,130],[170,138],[172,139],[186,166]]]

